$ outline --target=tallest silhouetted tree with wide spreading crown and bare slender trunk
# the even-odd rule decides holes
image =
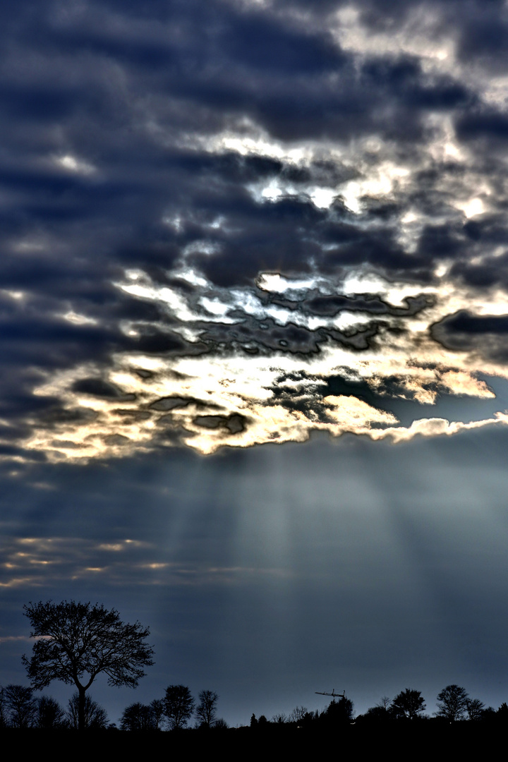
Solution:
[[[95,604],[68,603],[24,606],[34,643],[30,660],[23,656],[28,677],[37,690],[53,680],[78,689],[78,728],[85,728],[85,693],[97,674],[107,674],[109,685],[136,687],[153,664],[153,648],[145,643],[149,629],[139,622],[124,624],[115,609]]]

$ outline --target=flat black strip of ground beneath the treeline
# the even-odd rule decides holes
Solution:
[[[438,758],[455,757],[457,754],[488,754],[497,748],[506,738],[506,729],[491,726],[483,722],[456,722],[444,724],[434,722],[415,722],[407,726],[351,725],[336,730],[318,730],[317,728],[295,728],[283,726],[270,727],[263,731],[251,728],[229,728],[221,731],[181,732],[121,732],[107,730],[101,732],[83,732],[76,738],[75,731],[20,731],[5,730],[5,741],[12,740],[18,751],[23,749],[39,754],[42,748],[48,748],[52,756],[65,754],[75,756],[76,741],[82,754],[100,754],[101,757],[114,755],[118,758],[140,754],[143,757],[152,751],[182,755],[218,752],[222,757],[237,757],[239,754],[286,754],[299,756],[331,752],[341,757],[347,755],[388,753],[391,760],[402,759],[407,754],[429,754]],[[71,751],[73,750],[73,751]]]

